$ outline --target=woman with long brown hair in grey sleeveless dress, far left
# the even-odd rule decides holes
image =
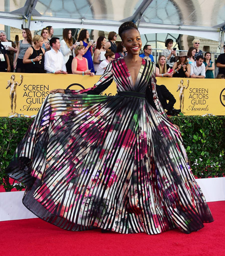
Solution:
[[[23,40],[20,40],[17,47],[17,53],[15,55],[13,68],[16,72],[24,72],[25,68],[22,62],[26,50],[32,46],[32,36],[29,29],[22,29]]]

